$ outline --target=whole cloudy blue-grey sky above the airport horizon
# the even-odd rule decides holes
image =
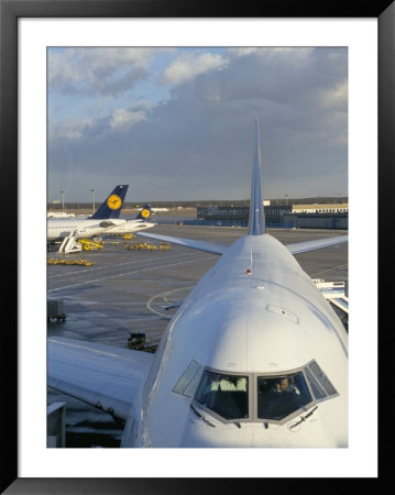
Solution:
[[[48,48],[47,200],[246,199],[256,117],[264,198],[348,196],[347,48]]]

